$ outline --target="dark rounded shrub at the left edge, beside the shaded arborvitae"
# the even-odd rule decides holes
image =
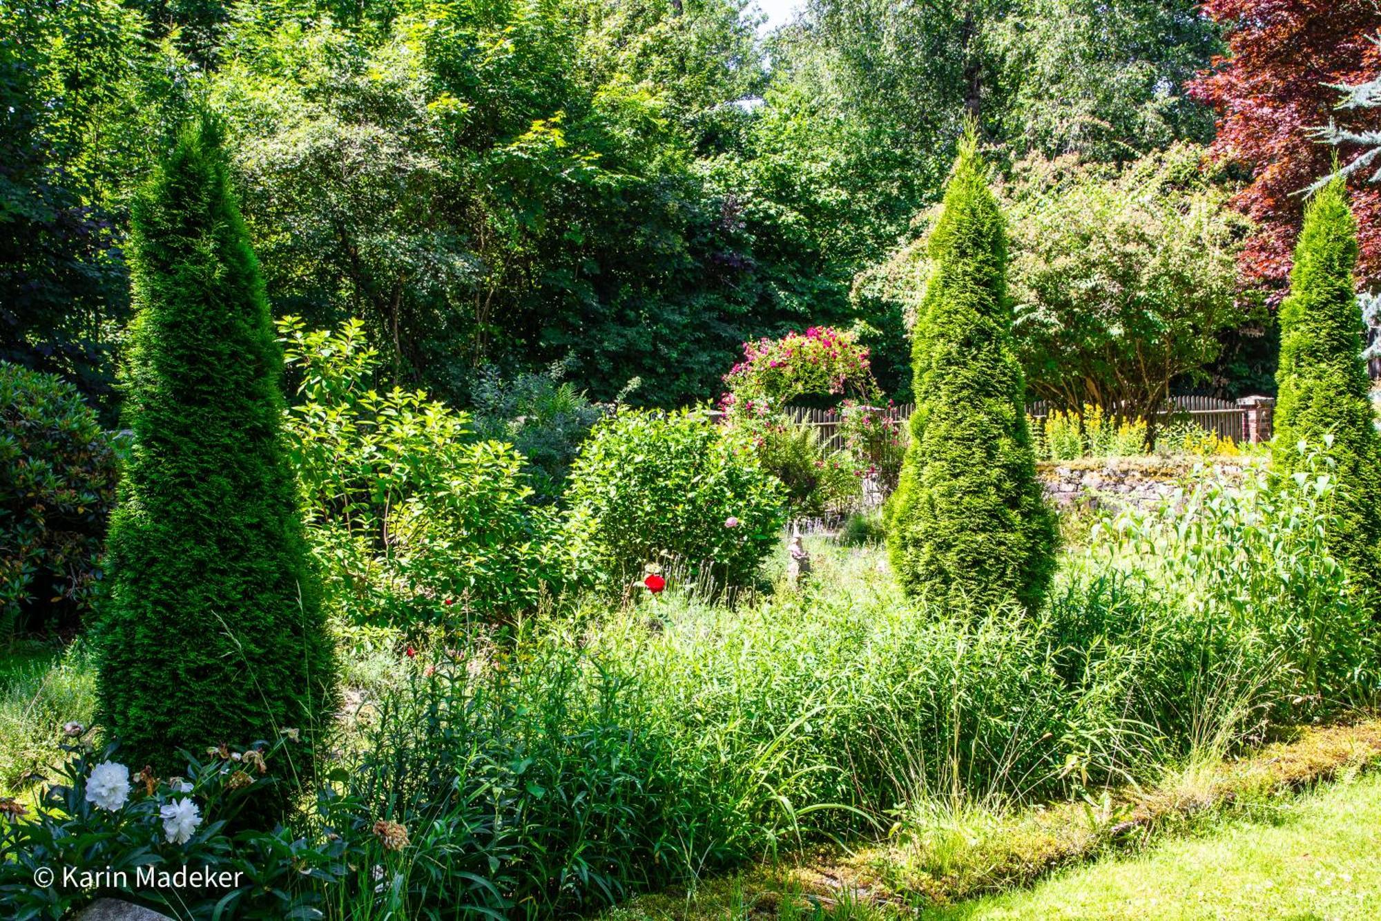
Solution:
[[[0,642],[90,610],[115,505],[110,448],[76,387],[0,361]]]

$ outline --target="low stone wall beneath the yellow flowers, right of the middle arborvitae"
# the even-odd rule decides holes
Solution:
[[[1189,481],[1195,470],[1215,467],[1240,480],[1248,458],[1083,458],[1040,461],[1037,476],[1056,506],[1087,502],[1094,508],[1153,508]]]

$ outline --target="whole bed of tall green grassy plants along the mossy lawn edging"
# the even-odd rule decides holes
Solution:
[[[1330,496],[1320,469],[1108,519],[1039,615],[920,607],[878,552],[818,542],[801,590],[674,584],[442,655],[349,756],[348,792],[417,850],[342,913],[590,910],[805,841],[1095,801],[1364,703],[1377,650]]]

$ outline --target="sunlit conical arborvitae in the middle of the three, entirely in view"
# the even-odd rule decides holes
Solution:
[[[888,516],[902,588],[947,607],[1040,606],[1055,564],[1012,344],[1007,236],[972,130],[929,238],[911,444]]]

